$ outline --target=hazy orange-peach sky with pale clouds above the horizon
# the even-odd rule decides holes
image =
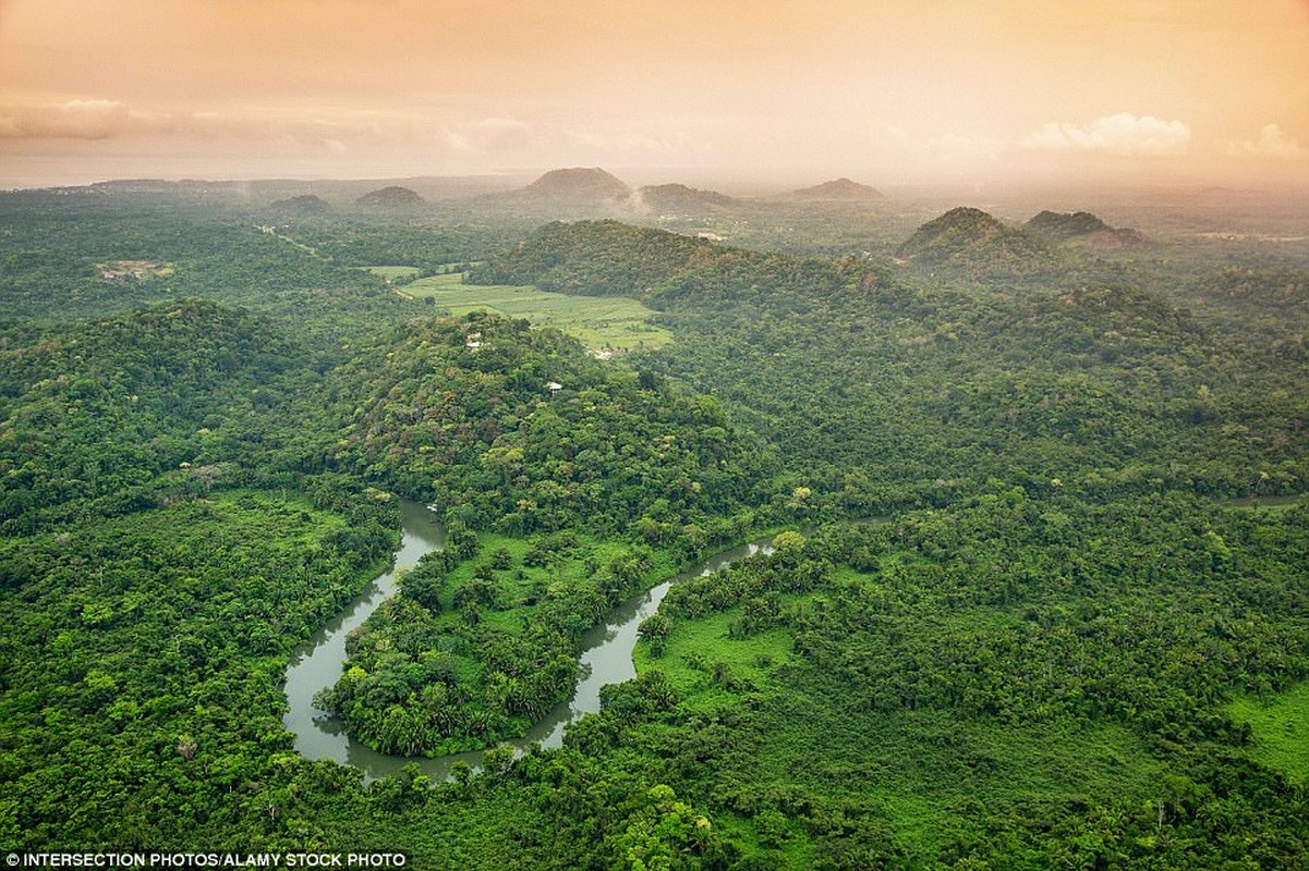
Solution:
[[[0,0],[0,187],[1309,184],[1309,0]]]

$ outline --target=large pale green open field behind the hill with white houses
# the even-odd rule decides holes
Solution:
[[[653,349],[673,341],[672,332],[649,322],[652,310],[626,297],[571,297],[533,286],[463,284],[459,273],[419,279],[404,285],[404,293],[432,299],[453,315],[496,311],[526,318],[538,327],[556,327],[593,350]]]

